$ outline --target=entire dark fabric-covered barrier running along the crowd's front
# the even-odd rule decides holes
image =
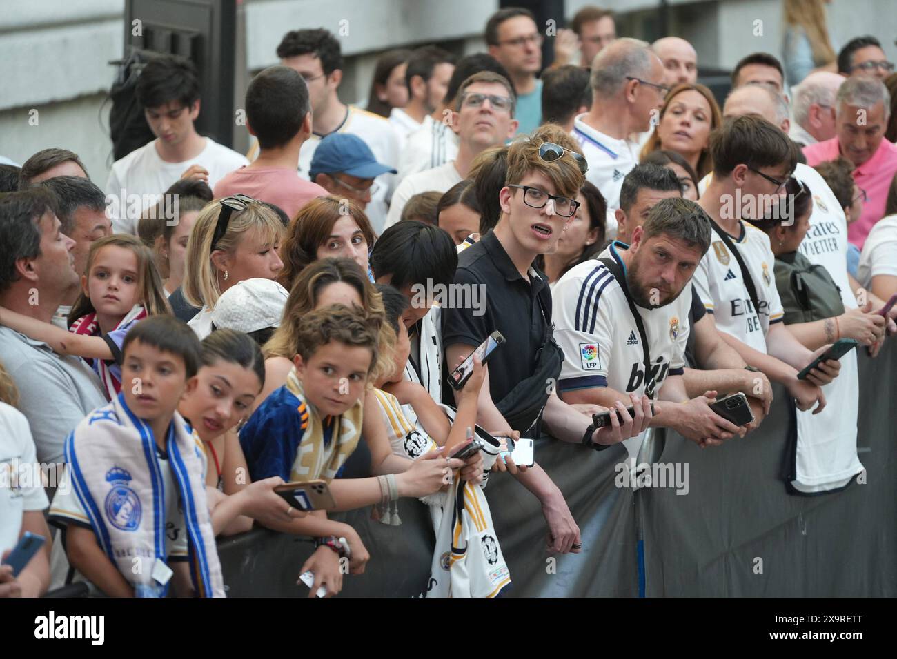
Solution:
[[[536,460],[567,499],[583,552],[546,560],[537,499],[508,474],[492,474],[486,495],[510,570],[506,594],[638,594],[636,504],[649,596],[897,594],[897,345],[885,343],[877,360],[861,353],[858,446],[866,484],[816,497],[786,492],[781,474],[792,421],[780,386],[770,416],[744,439],[700,449],[668,433],[659,462],[689,464],[687,494],[618,488],[614,466],[623,447],[596,453],[541,440]],[[399,502],[399,512],[397,527],[370,520],[370,509],[334,516],[353,525],[371,555],[364,575],[344,578],[344,595],[414,596],[425,589],[434,542],[429,513],[410,499]],[[218,547],[231,596],[308,594],[295,582],[309,542],[253,531]]]

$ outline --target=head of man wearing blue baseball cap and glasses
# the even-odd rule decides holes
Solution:
[[[331,195],[352,199],[363,211],[379,188],[374,180],[396,170],[374,158],[358,135],[332,133],[321,140],[311,159],[311,180]]]

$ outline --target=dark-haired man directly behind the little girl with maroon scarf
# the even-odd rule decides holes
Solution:
[[[39,186],[53,193],[51,204],[59,218],[59,230],[74,240],[73,267],[79,279],[53,316],[54,325],[68,329],[68,312],[81,292],[80,277],[86,274],[87,254],[94,242],[112,235],[112,221],[106,214],[106,195],[88,178],[48,178]]]

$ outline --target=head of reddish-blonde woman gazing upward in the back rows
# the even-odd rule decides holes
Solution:
[[[700,180],[713,169],[710,131],[722,123],[712,91],[702,84],[677,84],[666,94],[660,121],[642,148],[640,160],[658,149],[676,152],[688,160]]]

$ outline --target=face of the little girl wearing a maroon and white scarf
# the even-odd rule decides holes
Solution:
[[[125,247],[102,247],[93,257],[90,272],[81,278],[84,295],[101,316],[127,316],[140,304],[137,255]]]

